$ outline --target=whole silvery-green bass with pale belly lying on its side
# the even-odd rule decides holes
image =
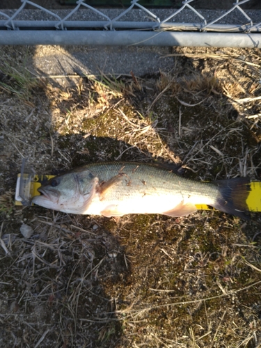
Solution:
[[[155,164],[86,164],[42,184],[32,203],[69,214],[186,216],[196,205],[248,219],[248,177],[199,182]]]

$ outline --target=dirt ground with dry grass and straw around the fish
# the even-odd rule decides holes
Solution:
[[[24,157],[54,175],[157,161],[195,180],[261,180],[260,51],[178,48],[169,70],[64,89],[30,74],[33,52],[0,52],[0,346],[260,347],[261,213],[14,205]]]

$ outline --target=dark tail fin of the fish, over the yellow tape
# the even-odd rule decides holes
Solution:
[[[236,177],[235,179],[216,180],[214,184],[219,187],[219,197],[214,208],[228,214],[249,219],[246,199],[251,191],[251,180],[248,177]]]

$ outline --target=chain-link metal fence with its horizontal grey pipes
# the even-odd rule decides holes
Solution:
[[[85,1],[69,11],[29,0],[17,10],[0,10],[0,45],[261,45],[261,12],[242,8],[253,0],[236,0],[229,10],[214,11],[215,17],[193,7],[196,0],[175,10],[149,10],[139,0],[126,10],[98,10]]]

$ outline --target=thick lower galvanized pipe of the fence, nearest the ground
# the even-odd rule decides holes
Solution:
[[[1,31],[0,45],[261,47],[261,33],[170,31]]]

